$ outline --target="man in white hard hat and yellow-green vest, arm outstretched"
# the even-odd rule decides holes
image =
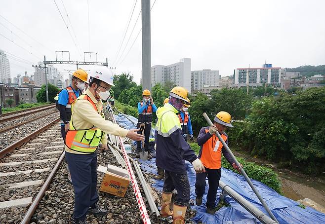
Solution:
[[[70,130],[67,132],[65,151],[75,189],[73,224],[86,224],[87,213],[105,216],[107,210],[97,205],[97,154],[102,144],[107,149],[107,134],[143,140],[139,129],[127,130],[105,120],[102,100],[107,100],[113,84],[113,73],[108,68],[91,72],[87,90],[71,105]]]

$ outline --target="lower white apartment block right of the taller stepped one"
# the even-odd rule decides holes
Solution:
[[[218,70],[191,71],[191,91],[200,91],[209,86],[219,86],[220,75]],[[201,91],[200,91],[201,92]]]

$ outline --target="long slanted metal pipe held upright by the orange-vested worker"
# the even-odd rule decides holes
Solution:
[[[203,113],[203,117],[205,118],[205,120],[208,122],[208,124],[210,126],[213,126],[212,121],[210,120],[210,118],[206,115],[206,113]],[[230,154],[230,156],[232,157],[232,159],[235,161],[236,165],[240,168],[241,173],[243,174],[244,178],[246,179],[247,183],[249,184],[249,186],[252,188],[252,190],[254,191],[254,193],[256,194],[256,196],[258,197],[258,199],[260,200],[260,202],[262,203],[263,207],[265,208],[265,210],[269,213],[269,215],[271,216],[271,218],[276,221],[277,223],[278,220],[275,218],[275,216],[273,215],[273,213],[271,212],[271,210],[269,209],[269,207],[267,206],[267,204],[265,203],[264,199],[261,197],[261,195],[258,193],[258,191],[256,190],[256,188],[254,187],[253,183],[250,181],[249,177],[247,176],[246,172],[244,171],[243,167],[240,165],[240,163],[237,161],[235,155],[233,154],[233,152],[230,150],[230,148],[228,147],[228,145],[225,143],[225,141],[223,140],[223,138],[221,138],[219,132],[216,132],[216,135],[218,137],[218,139],[220,140],[220,142],[222,143],[223,147],[227,150],[227,152]]]

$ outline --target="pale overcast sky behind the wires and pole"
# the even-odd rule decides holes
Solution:
[[[32,63],[42,61],[43,55],[55,60],[55,50],[70,51],[71,60],[83,60],[79,50],[97,52],[99,62],[107,57],[117,74],[130,72],[139,82],[141,33],[129,49],[141,28],[141,15],[123,49],[141,0],[136,2],[118,56],[135,0],[89,0],[90,41],[87,0],[63,3],[68,17],[62,0],[0,0],[0,49],[28,61],[9,57],[11,77],[24,71],[33,73]],[[232,75],[235,68],[260,67],[265,60],[282,68],[325,64],[324,9],[324,0],[156,0],[151,11],[151,62],[168,65],[187,57],[192,59],[192,71],[219,70],[222,76]],[[58,56],[58,60],[68,59],[67,55]],[[76,68],[56,67],[60,72]]]

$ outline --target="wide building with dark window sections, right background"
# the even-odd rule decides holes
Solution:
[[[280,67],[267,67],[272,64],[264,64],[262,68],[238,68],[235,70],[235,87],[261,86],[264,83],[281,87]]]

